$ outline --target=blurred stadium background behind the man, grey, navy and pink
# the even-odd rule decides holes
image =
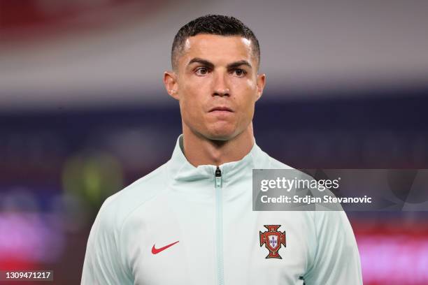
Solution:
[[[255,136],[271,156],[428,168],[427,1],[0,0],[1,269],[79,284],[101,203],[171,156],[162,73],[178,28],[207,13],[259,38]],[[364,284],[428,284],[426,212],[348,217]]]

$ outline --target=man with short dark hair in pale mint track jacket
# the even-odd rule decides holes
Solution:
[[[344,212],[252,211],[252,169],[290,168],[253,137],[266,76],[252,31],[199,17],[178,31],[171,59],[164,84],[183,135],[171,160],[102,205],[82,284],[362,284]]]

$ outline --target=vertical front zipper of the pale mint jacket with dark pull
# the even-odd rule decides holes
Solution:
[[[223,204],[222,204],[222,170],[215,170],[215,220],[217,244],[217,284],[224,285],[223,271]]]

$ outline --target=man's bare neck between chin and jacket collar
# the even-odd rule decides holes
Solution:
[[[183,146],[187,161],[193,166],[215,165],[239,161],[254,144],[252,123],[231,140],[210,140],[198,135],[183,124]]]

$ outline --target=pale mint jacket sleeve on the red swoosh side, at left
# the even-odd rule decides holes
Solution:
[[[115,214],[108,208],[108,198],[101,206],[87,241],[81,285],[133,284],[124,270],[117,247]]]

